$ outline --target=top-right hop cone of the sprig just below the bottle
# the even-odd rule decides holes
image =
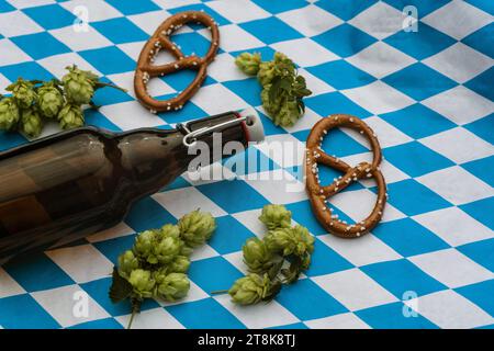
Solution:
[[[206,212],[195,210],[180,218],[178,223],[180,236],[189,247],[203,245],[216,229],[214,217]]]

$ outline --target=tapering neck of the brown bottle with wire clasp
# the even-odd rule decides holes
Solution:
[[[142,194],[154,193],[171,183],[187,170],[195,170],[228,157],[248,144],[248,132],[243,122],[227,125],[239,115],[228,112],[179,124],[177,129],[146,128],[117,136],[121,165]],[[214,129],[198,137],[183,139],[193,132]],[[206,132],[206,131],[205,131]]]

